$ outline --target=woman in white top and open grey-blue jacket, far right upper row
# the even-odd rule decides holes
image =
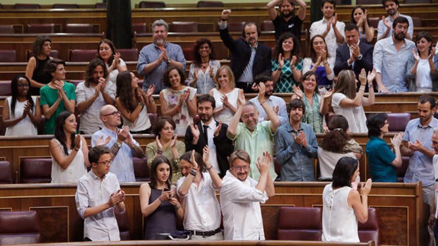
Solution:
[[[406,80],[409,91],[438,91],[438,72],[434,64],[435,47],[432,48],[432,36],[428,32],[420,32],[416,37],[417,49],[406,64]]]

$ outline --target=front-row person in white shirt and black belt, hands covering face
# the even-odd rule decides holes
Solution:
[[[192,233],[192,240],[223,240],[216,197],[222,180],[209,162],[208,145],[203,149],[202,159],[195,150],[180,159],[184,176],[177,181],[177,195],[184,201],[184,230]]]

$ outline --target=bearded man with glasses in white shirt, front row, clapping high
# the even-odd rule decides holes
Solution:
[[[264,152],[257,160],[258,182],[248,177],[251,160],[244,150],[229,158],[230,169],[220,188],[220,207],[223,215],[225,240],[265,240],[260,203],[275,194],[269,174],[271,155]]]

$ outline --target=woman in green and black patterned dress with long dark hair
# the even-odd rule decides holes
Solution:
[[[271,70],[274,92],[291,93],[292,86],[298,85],[303,71],[303,59],[300,57],[300,42],[292,33],[285,32],[278,38]]]

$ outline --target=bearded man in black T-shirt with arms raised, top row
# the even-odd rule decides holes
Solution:
[[[295,2],[300,5],[298,15],[295,15]],[[277,14],[275,6],[278,6],[279,14]],[[266,7],[269,17],[274,23],[275,39],[278,39],[283,32],[291,32],[300,40],[301,26],[306,17],[306,2],[303,0],[271,0]]]

